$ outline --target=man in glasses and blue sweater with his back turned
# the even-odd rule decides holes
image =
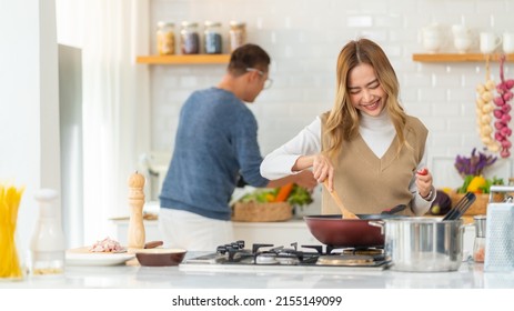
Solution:
[[[233,242],[229,201],[240,178],[253,187],[318,184],[310,171],[274,181],[260,173],[258,122],[246,103],[271,87],[270,61],[259,46],[235,49],[218,87],[194,91],[182,106],[160,194],[159,229],[167,247],[214,251]]]

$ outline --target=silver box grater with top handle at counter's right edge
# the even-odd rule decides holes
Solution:
[[[514,271],[514,203],[492,202],[493,193],[514,192],[512,185],[491,187],[485,232],[484,271]]]

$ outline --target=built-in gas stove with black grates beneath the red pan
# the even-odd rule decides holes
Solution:
[[[245,248],[244,241],[219,245],[215,252],[187,259],[179,265],[183,271],[381,271],[391,265],[383,249],[347,249],[331,245],[275,247],[268,243]],[[306,251],[305,251],[306,250]]]

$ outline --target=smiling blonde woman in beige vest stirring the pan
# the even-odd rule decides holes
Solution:
[[[384,51],[367,39],[349,42],[336,77],[332,110],[266,156],[261,174],[273,180],[311,169],[353,213],[406,204],[404,214],[424,214],[435,199],[426,169],[429,131],[400,104],[399,81]],[[341,213],[326,191],[322,197],[322,213]]]

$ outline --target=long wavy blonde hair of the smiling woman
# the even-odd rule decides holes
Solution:
[[[350,102],[347,77],[361,63],[373,67],[380,87],[387,94],[384,109],[396,130],[399,151],[405,144],[403,129],[406,114],[399,102],[400,84],[396,73],[379,44],[367,39],[353,40],[343,47],[337,58],[335,102],[326,120],[329,146],[325,152],[330,158],[337,157],[343,140],[351,141],[359,134],[360,112]]]

